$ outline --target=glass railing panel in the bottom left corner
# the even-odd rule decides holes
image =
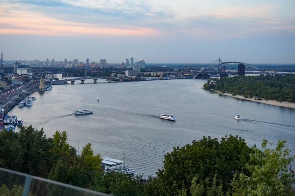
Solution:
[[[104,193],[0,168],[0,196],[109,196]]]

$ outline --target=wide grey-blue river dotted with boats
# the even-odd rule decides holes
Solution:
[[[92,82],[92,80],[85,81]],[[104,82],[104,80],[100,80]],[[91,142],[95,154],[124,160],[136,174],[155,175],[164,155],[173,147],[203,136],[239,135],[249,146],[286,139],[295,149],[295,109],[224,97],[201,89],[204,80],[55,85],[43,95],[33,94],[31,107],[15,107],[24,125],[47,136],[67,131],[68,142],[81,153]],[[97,95],[99,101],[96,100]],[[93,114],[74,116],[76,109]],[[157,118],[174,115],[176,122]],[[236,121],[234,116],[242,118]],[[16,129],[17,131],[18,129]]]

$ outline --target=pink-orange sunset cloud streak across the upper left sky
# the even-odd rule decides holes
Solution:
[[[110,28],[95,24],[76,23],[45,16],[36,12],[12,10],[0,11],[0,34],[40,34],[40,35],[154,35],[159,32],[148,28],[123,26]],[[13,28],[11,28],[13,27]]]

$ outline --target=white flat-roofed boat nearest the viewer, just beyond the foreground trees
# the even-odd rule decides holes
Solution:
[[[133,167],[127,165],[124,161],[112,159],[109,157],[103,158],[101,162],[102,168],[106,172],[118,172],[132,175],[134,173]]]

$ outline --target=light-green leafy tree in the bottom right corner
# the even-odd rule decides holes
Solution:
[[[279,140],[276,148],[267,148],[263,140],[262,148],[254,149],[251,160],[258,164],[246,164],[252,175],[241,173],[235,176],[232,184],[233,195],[247,196],[291,196],[295,195],[295,179],[292,163],[295,156],[290,156],[290,149],[285,146],[286,140]],[[270,144],[271,145],[271,144]]]

